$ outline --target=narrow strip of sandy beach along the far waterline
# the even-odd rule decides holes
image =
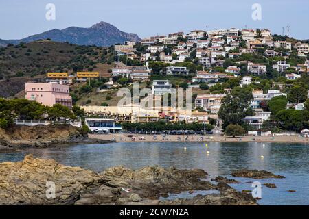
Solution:
[[[89,134],[89,138],[109,140],[114,142],[299,142],[309,143],[309,138],[301,136],[218,136],[218,135],[139,135],[129,133],[119,134]]]

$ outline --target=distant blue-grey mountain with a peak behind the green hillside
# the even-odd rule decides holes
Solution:
[[[0,46],[5,46],[8,43],[19,44],[20,42],[33,42],[47,38],[56,42],[70,42],[78,45],[96,45],[101,47],[123,43],[124,41],[137,42],[141,40],[137,34],[128,34],[109,23],[100,22],[89,28],[67,27],[66,29],[52,29],[21,40],[0,39]]]

